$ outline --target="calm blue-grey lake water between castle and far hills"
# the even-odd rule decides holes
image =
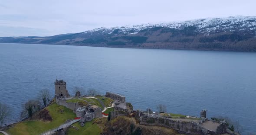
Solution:
[[[54,81],[126,96],[134,109],[239,120],[256,132],[256,53],[0,44],[0,102],[12,107],[7,123],[20,119],[22,104]]]

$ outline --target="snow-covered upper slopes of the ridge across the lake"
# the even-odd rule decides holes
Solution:
[[[129,34],[130,31],[140,32],[143,29],[151,29],[154,27],[167,27],[171,29],[184,29],[187,26],[194,26],[197,28],[197,32],[215,32],[215,31],[241,31],[241,30],[256,30],[256,16],[230,16],[225,18],[207,18],[207,19],[195,19],[188,21],[174,21],[170,23],[147,23],[133,26],[121,26],[106,28],[101,27],[88,32],[106,32],[111,33],[115,29],[119,29],[119,32]],[[131,34],[131,33],[130,33]]]

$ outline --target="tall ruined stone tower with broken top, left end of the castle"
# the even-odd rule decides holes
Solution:
[[[69,92],[66,90],[66,82],[63,80],[57,80],[54,82],[55,84],[55,96],[59,98],[69,97]]]

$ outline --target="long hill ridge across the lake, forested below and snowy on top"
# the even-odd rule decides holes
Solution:
[[[256,16],[196,19],[113,28],[98,28],[48,37],[0,37],[5,43],[256,51]]]

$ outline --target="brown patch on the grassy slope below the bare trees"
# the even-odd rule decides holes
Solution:
[[[42,109],[39,112],[35,113],[30,120],[41,120],[41,121],[53,121],[53,118],[50,116],[47,109]]]

